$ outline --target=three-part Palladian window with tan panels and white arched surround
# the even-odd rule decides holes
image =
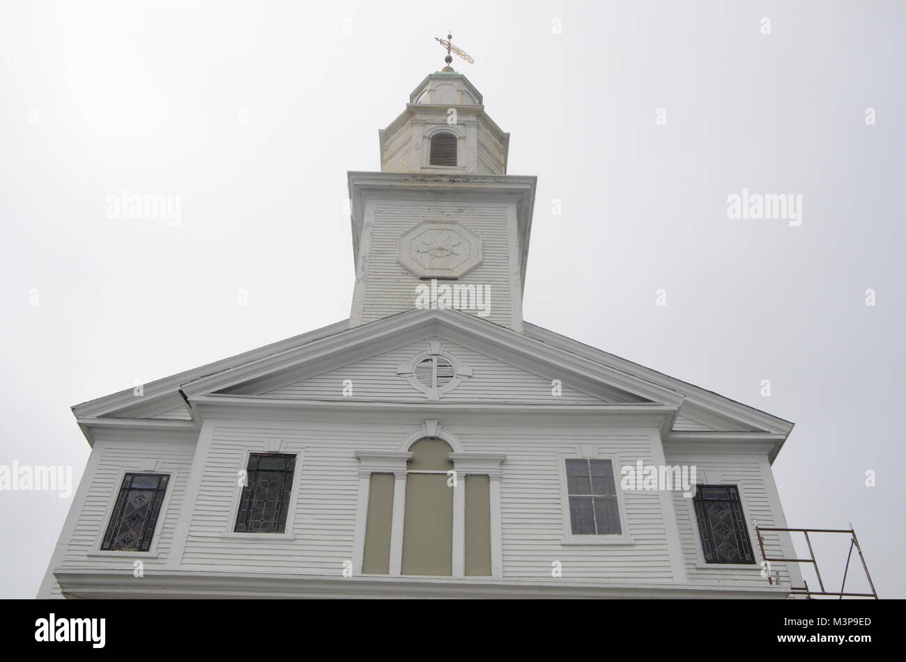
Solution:
[[[355,451],[354,567],[397,577],[501,577],[506,455],[466,452],[438,421],[425,421],[398,448]]]

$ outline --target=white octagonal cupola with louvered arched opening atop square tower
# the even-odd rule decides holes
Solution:
[[[509,134],[487,116],[481,93],[456,71],[429,74],[400,117],[378,133],[381,172],[506,175]]]

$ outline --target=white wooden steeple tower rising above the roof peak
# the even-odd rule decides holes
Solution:
[[[452,307],[522,331],[536,178],[506,175],[509,134],[449,60],[379,130],[381,172],[348,174],[352,326]]]

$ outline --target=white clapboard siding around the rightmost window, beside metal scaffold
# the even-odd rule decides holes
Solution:
[[[677,515],[679,526],[679,540],[682,546],[686,570],[689,573],[689,582],[714,583],[719,577],[722,583],[763,583],[766,579],[761,577],[761,553],[755,536],[752,520],[756,519],[760,526],[782,526],[777,524],[776,515],[762,475],[762,465],[757,459],[734,459],[733,456],[723,456],[716,459],[714,456],[702,458],[689,454],[667,456],[670,465],[695,465],[702,478],[704,472],[706,479],[713,482],[719,478],[719,484],[731,484],[739,487],[739,496],[743,501],[743,510],[747,518],[747,526],[752,550],[757,563],[755,565],[739,565],[738,568],[728,568],[721,565],[718,568],[708,568],[707,563],[701,563],[697,541],[699,525],[695,522],[694,510],[689,506],[689,498],[683,497],[681,492],[674,493],[673,507]],[[765,534],[765,552],[772,558],[780,558],[785,554],[780,547],[777,534]],[[789,572],[786,563],[771,563],[771,571],[780,571],[782,584],[789,586]]]

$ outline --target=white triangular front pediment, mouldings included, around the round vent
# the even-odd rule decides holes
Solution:
[[[442,397],[463,401],[662,403],[681,398],[629,374],[573,360],[503,326],[456,310],[412,310],[314,341],[184,385],[193,395],[271,398],[424,400],[404,366],[429,355],[431,344],[453,355],[470,374]],[[412,371],[414,374],[414,371]],[[461,372],[459,374],[462,374]],[[554,395],[554,390],[559,394]]]

